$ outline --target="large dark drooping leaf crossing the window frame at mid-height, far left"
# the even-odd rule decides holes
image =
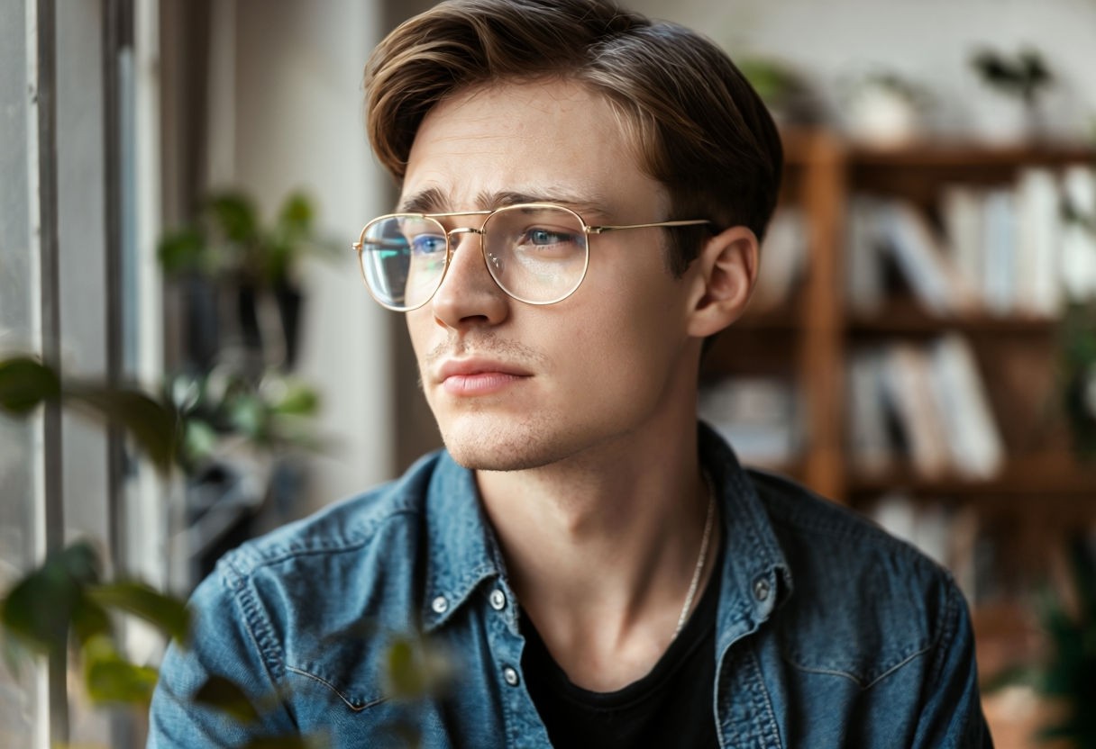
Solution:
[[[171,469],[178,439],[178,417],[173,410],[137,390],[72,384],[66,388],[65,396],[116,420],[161,473]]]

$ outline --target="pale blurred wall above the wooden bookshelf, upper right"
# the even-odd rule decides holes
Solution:
[[[838,82],[883,66],[926,85],[929,124],[963,132],[994,96],[974,76],[974,49],[1039,49],[1059,74],[1048,97],[1058,135],[1088,134],[1096,118],[1096,2],[1093,0],[625,0],[654,18],[706,33],[732,57],[765,55],[794,64],[841,116]]]

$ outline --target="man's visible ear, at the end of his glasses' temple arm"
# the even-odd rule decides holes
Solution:
[[[731,227],[708,240],[694,261],[689,335],[704,338],[739,319],[757,279],[757,237]]]

